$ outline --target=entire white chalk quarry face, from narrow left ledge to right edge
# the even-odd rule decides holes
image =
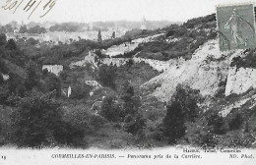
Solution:
[[[199,89],[202,95],[214,96],[219,84],[226,81],[224,94],[242,94],[249,88],[256,88],[256,70],[250,68],[229,67],[233,57],[244,56],[243,50],[225,51],[219,50],[218,40],[209,40],[192,55],[192,59],[185,61],[183,58],[159,61],[144,58],[132,58],[135,63],[145,62],[155,70],[162,72],[158,77],[144,85],[159,84],[152,95],[160,101],[167,101],[174,93],[178,83],[185,83],[194,89]],[[90,53],[85,60],[76,62],[71,66],[85,66],[94,64],[96,55]],[[116,65],[120,67],[126,64],[129,58],[104,58],[101,64]]]

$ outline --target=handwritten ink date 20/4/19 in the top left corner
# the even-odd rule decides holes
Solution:
[[[39,12],[39,17],[46,16],[52,8],[55,6],[56,0],[5,0],[5,4],[2,9],[11,11],[13,14],[17,10],[23,10],[25,13],[29,13],[28,20],[32,17],[35,12]]]

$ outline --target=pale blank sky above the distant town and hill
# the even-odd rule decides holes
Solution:
[[[215,13],[216,5],[241,2],[255,4],[256,2],[256,0],[32,0],[35,3],[31,9],[28,6],[26,10],[29,10],[26,12],[24,8],[31,0],[9,0],[9,3],[6,1],[8,0],[0,0],[0,24],[2,25],[11,21],[18,23],[23,21],[25,24],[45,21],[58,23],[141,21],[144,16],[149,21],[186,22],[189,19]],[[49,4],[55,1],[55,5],[40,18],[48,11],[49,1]],[[9,7],[10,10],[3,9],[3,6]],[[43,6],[45,6],[44,10]]]

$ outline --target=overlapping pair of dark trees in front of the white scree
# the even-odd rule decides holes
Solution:
[[[197,106],[199,91],[178,84],[176,91],[167,105],[167,113],[163,119],[163,135],[169,143],[176,143],[185,135],[185,123],[194,122],[201,110]]]

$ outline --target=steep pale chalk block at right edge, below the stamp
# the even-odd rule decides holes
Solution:
[[[250,88],[256,88],[256,70],[230,67],[225,86],[225,96],[231,93],[242,94]]]

